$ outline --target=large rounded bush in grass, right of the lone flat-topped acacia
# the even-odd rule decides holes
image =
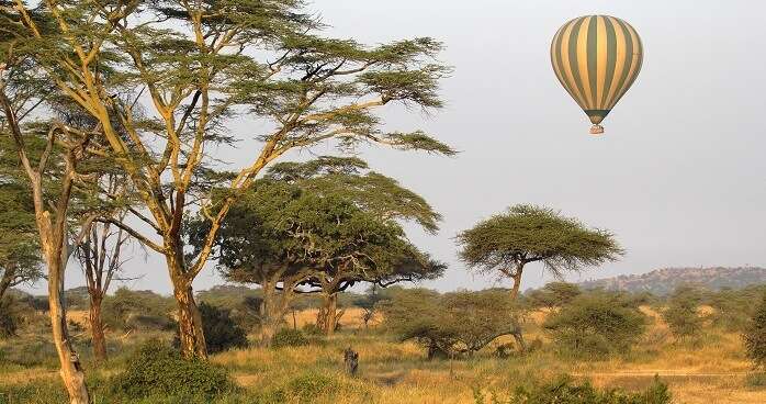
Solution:
[[[645,316],[630,301],[608,292],[583,294],[545,319],[563,354],[604,358],[628,351],[645,328]]]

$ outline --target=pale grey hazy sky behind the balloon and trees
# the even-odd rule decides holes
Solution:
[[[457,258],[454,235],[517,203],[542,204],[616,234],[615,263],[570,281],[678,266],[766,266],[766,2],[315,0],[326,34],[368,44],[431,36],[447,106],[433,114],[388,108],[386,128],[423,128],[455,157],[364,148],[372,168],[424,195],[443,216],[438,235],[410,238],[449,263],[424,285],[442,291],[508,285]],[[641,35],[639,79],[588,135],[587,117],[557,82],[550,41],[572,18],[609,14]],[[249,133],[246,122],[232,128]],[[319,147],[316,154],[333,150]],[[252,149],[227,157],[241,166]],[[293,156],[305,158],[305,156]],[[82,284],[71,265],[68,287]],[[133,289],[169,293],[154,252],[126,265]],[[530,267],[522,289],[551,278]],[[196,290],[223,281],[212,266]],[[40,287],[35,288],[35,290]]]

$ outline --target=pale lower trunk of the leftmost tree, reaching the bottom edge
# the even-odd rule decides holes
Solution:
[[[61,262],[61,251],[48,246],[46,261],[48,265],[48,306],[50,315],[50,328],[53,332],[53,343],[56,346],[58,360],[61,364],[60,375],[64,385],[69,393],[71,404],[89,404],[90,396],[86,386],[86,375],[77,352],[71,347],[69,330],[67,329],[66,307],[61,302],[64,290],[64,265]],[[50,250],[54,251],[50,251]],[[56,256],[56,257],[50,257]]]

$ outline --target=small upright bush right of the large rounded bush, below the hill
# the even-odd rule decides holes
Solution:
[[[673,335],[678,339],[699,338],[705,318],[697,313],[701,295],[694,288],[679,287],[662,313]]]

